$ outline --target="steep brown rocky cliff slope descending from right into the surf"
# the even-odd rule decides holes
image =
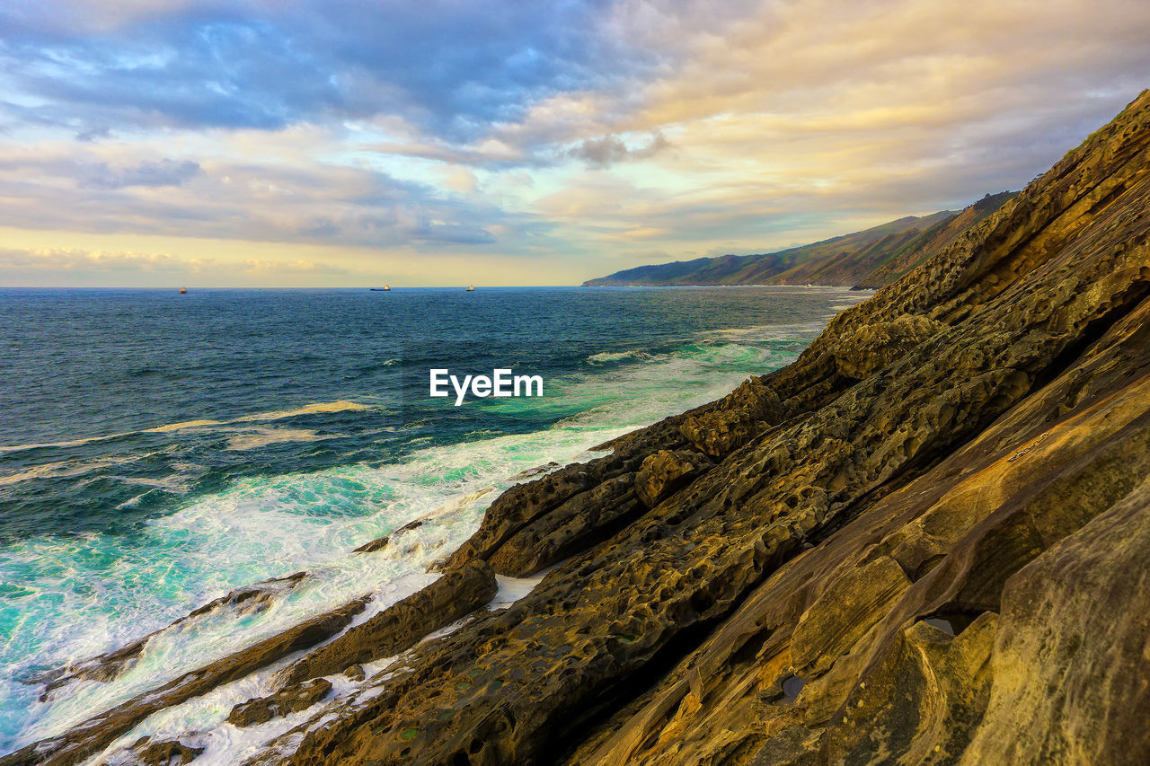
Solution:
[[[1150,763],[1150,92],[790,367],[604,446],[290,666],[252,710],[312,713],[250,763]]]

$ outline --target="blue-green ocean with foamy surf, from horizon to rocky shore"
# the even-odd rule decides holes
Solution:
[[[838,289],[0,290],[0,753],[351,598],[436,575],[516,474],[793,360]],[[428,370],[540,375],[543,398],[428,396]],[[370,554],[358,545],[404,523]],[[306,570],[258,613],[167,628]],[[497,602],[534,581],[500,580]],[[28,681],[160,630],[112,682]],[[385,662],[379,664],[383,667]],[[306,713],[223,725],[275,667],[147,719],[237,763]],[[337,692],[356,694],[340,677]]]

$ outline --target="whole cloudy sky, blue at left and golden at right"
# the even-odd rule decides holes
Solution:
[[[0,285],[578,284],[1020,189],[1143,0],[0,0]]]

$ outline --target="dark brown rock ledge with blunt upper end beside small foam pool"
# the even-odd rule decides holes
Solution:
[[[296,660],[276,673],[274,683],[285,690],[309,679],[398,654],[432,630],[483,606],[498,590],[491,566],[482,560],[469,561]]]

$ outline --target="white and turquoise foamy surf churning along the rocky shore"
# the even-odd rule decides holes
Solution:
[[[97,712],[363,593],[377,595],[373,611],[394,603],[434,579],[427,574],[428,565],[470,536],[491,499],[514,483],[509,477],[550,461],[600,457],[586,450],[713,400],[749,371],[790,361],[792,352],[746,345],[737,332],[756,340],[765,335],[793,339],[795,327],[814,332],[821,328],[775,325],[719,334],[721,342],[557,381],[543,399],[481,404],[494,411],[530,407],[559,416],[554,426],[540,431],[425,447],[401,464],[382,467],[344,466],[238,480],[216,495],[192,499],[169,515],[150,520],[128,538],[45,537],[0,549],[0,580],[18,582],[28,592],[21,616],[12,626],[20,645],[9,644],[0,654],[8,658],[0,660],[6,662],[0,665],[0,710],[13,713],[9,723],[0,723],[0,737],[15,749],[59,735]],[[354,405],[328,403],[261,418],[340,412],[348,404]],[[256,418],[245,419],[251,420]],[[308,439],[321,436],[274,428],[240,436],[267,438],[275,431],[284,436],[294,431],[296,437]],[[352,549],[416,519],[424,523],[396,536],[383,550],[351,554]],[[266,611],[239,620],[222,611],[164,631],[120,679],[72,684],[51,705],[36,702],[37,689],[2,680],[18,677],[31,665],[60,666],[122,646],[233,588],[298,570],[312,577]],[[503,579],[493,607],[522,598],[540,579]],[[258,685],[263,677],[243,679],[232,689],[241,697],[250,692],[245,683]],[[221,723],[231,704],[240,700],[231,694],[206,695],[158,713],[161,718],[150,718],[125,741],[159,730],[159,721],[166,720],[164,727],[177,734],[202,729],[221,742],[247,742],[240,750],[236,749],[239,744],[217,749],[229,757],[246,752],[252,743],[235,737],[247,735]]]

